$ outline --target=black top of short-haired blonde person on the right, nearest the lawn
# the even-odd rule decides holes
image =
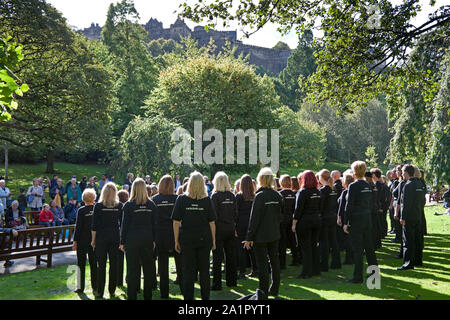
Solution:
[[[352,222],[352,219],[366,218],[372,213],[372,188],[365,180],[356,180],[348,186],[347,203],[343,224]]]

